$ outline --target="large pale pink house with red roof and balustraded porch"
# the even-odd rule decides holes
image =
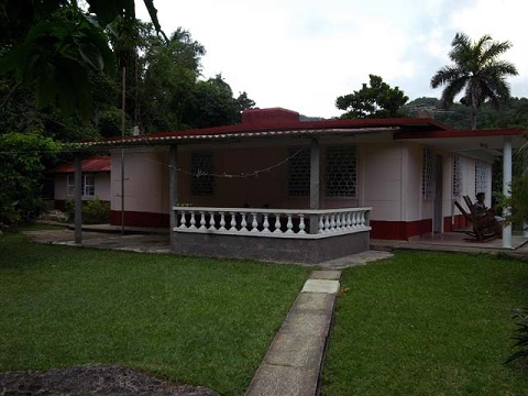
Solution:
[[[84,146],[111,151],[113,224],[170,226],[179,253],[318,262],[367,250],[370,238],[460,227],[454,200],[484,191],[490,205],[494,158],[505,153],[510,172],[512,147],[525,141],[520,129],[300,122],[274,108],[246,110],[239,125]]]

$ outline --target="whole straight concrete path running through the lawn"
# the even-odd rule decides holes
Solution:
[[[248,389],[248,396],[314,396],[339,293],[341,271],[315,271],[305,283]]]

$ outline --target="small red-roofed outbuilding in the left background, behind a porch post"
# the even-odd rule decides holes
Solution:
[[[81,161],[82,200],[110,201],[110,156],[90,156]],[[46,174],[53,177],[54,207],[64,210],[66,201],[74,199],[74,164],[58,165],[47,169]]]

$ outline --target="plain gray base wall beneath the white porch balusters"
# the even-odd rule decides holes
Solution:
[[[320,239],[172,232],[170,246],[178,254],[318,264],[367,251],[369,231]]]

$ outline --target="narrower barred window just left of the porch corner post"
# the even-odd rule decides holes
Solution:
[[[310,150],[290,148],[288,152],[288,195],[310,195]]]

